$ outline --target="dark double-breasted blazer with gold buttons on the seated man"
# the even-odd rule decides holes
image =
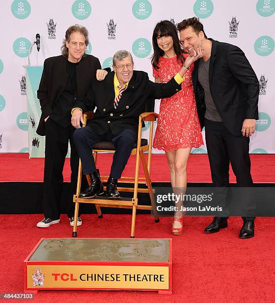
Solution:
[[[114,108],[114,72],[107,74],[103,81],[94,81],[86,98],[81,98],[76,107],[83,111],[94,110],[94,118],[88,123],[92,130],[104,134],[109,128],[114,135],[125,129],[137,132],[138,117],[145,111],[145,105],[150,99],[168,98],[182,89],[174,78],[167,84],[154,83],[148,74],[134,70],[128,88],[122,93],[117,108]]]

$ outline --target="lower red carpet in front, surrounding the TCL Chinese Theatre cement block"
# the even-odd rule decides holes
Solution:
[[[1,215],[0,293],[23,292],[23,260],[40,238],[70,237],[65,215],[49,228],[35,225],[41,215]],[[170,233],[171,218],[154,223],[149,215],[137,215],[137,238],[173,238],[173,295],[157,292],[39,291],[32,302],[274,302],[275,218],[256,219],[256,236],[241,240],[240,218],[229,218],[229,227],[204,234],[209,218],[187,217],[182,236]],[[130,215],[83,215],[78,236],[128,238]],[[12,301],[13,302],[13,301]],[[14,301],[22,302],[22,301]]]

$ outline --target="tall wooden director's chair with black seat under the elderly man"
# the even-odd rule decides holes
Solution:
[[[93,112],[85,112],[83,115],[84,124],[86,126],[87,120],[91,120],[94,116]],[[150,166],[151,166],[151,156],[152,156],[152,138],[153,138],[153,123],[156,121],[158,114],[154,112],[144,112],[139,116],[138,121],[138,133],[137,133],[137,143],[132,150],[132,155],[136,155],[136,172],[135,177],[121,177],[119,183],[131,183],[134,184],[134,188],[131,187],[118,187],[118,191],[121,192],[134,192],[133,198],[107,198],[106,196],[94,197],[92,199],[81,199],[78,198],[81,190],[81,178],[82,178],[82,165],[81,160],[79,160],[79,170],[78,170],[78,181],[77,181],[77,191],[76,195],[73,197],[73,202],[75,202],[75,218],[74,218],[74,228],[73,228],[73,237],[77,237],[77,218],[78,218],[78,209],[79,203],[92,203],[95,204],[95,208],[98,214],[98,218],[102,218],[102,213],[100,206],[103,207],[118,207],[118,208],[132,208],[132,227],[131,227],[131,238],[135,238],[135,224],[136,224],[136,211],[137,209],[147,209],[153,210],[155,216],[155,222],[159,222],[156,211],[156,203],[153,195],[153,189],[151,184],[151,179],[149,176]],[[149,134],[149,143],[147,139],[141,139],[141,129],[142,122],[150,121],[150,134]],[[92,152],[94,161],[96,164],[96,158],[98,152],[115,152],[115,147],[112,142],[98,142],[92,146]],[[144,152],[148,152],[148,161],[144,157]],[[139,177],[139,159],[141,159],[142,167],[144,170],[145,178]],[[87,180],[89,185],[91,185],[91,179],[89,175]],[[101,176],[102,182],[107,181],[108,176]],[[127,179],[127,180],[125,180]],[[139,188],[139,184],[145,184],[146,188]],[[104,187],[106,190],[106,187]],[[151,205],[140,205],[138,204],[137,193],[149,193]]]

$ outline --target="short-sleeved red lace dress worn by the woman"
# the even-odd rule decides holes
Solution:
[[[181,69],[177,57],[159,59],[159,69],[153,67],[153,76],[167,83]],[[185,73],[182,90],[160,102],[158,124],[153,147],[158,150],[175,151],[198,148],[203,145],[196,101],[192,86],[193,64]]]

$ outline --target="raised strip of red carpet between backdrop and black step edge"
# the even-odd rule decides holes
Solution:
[[[111,154],[100,154],[97,167],[101,175],[109,175]],[[251,154],[251,174],[255,183],[275,182],[275,154]],[[24,153],[0,154],[0,182],[42,182],[44,159],[31,158]],[[64,167],[64,181],[69,182],[70,163],[66,159]],[[131,156],[125,168],[125,176],[135,173],[135,157]],[[140,168],[142,175],[142,168]],[[151,180],[153,182],[169,182],[169,169],[165,154],[153,154],[151,162]],[[187,165],[188,182],[211,182],[210,167],[206,154],[191,154]],[[230,183],[234,183],[235,176],[230,168]]]

